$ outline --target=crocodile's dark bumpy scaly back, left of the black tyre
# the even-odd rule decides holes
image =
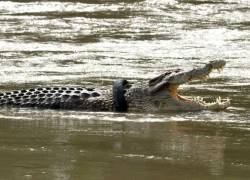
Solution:
[[[0,106],[110,110],[105,93],[94,88],[47,87],[0,93]]]

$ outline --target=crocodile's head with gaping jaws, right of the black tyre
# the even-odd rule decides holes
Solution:
[[[162,112],[226,109],[230,106],[229,99],[215,98],[214,102],[205,102],[202,98],[186,98],[178,92],[180,85],[207,79],[212,70],[221,70],[225,64],[223,60],[216,60],[191,71],[170,70],[147,83],[133,85],[126,93],[130,109]]]

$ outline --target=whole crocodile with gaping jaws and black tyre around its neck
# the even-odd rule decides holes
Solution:
[[[167,70],[137,83],[118,80],[108,89],[38,87],[13,90],[0,93],[0,106],[118,112],[224,110],[230,106],[230,99],[205,102],[201,98],[187,98],[178,93],[178,87],[206,79],[212,70],[220,70],[225,64],[224,60],[214,60],[189,71]]]

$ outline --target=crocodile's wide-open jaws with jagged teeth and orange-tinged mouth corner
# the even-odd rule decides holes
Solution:
[[[225,109],[230,105],[229,99],[216,98],[215,101],[208,102],[201,97],[187,98],[178,93],[179,86],[194,80],[206,80],[213,70],[222,71],[226,61],[215,60],[210,61],[203,67],[194,68],[189,71],[182,71],[180,69],[168,70],[165,73],[151,79],[149,81],[148,93],[151,96],[169,98],[169,95],[176,100],[172,103],[165,103],[166,109],[177,110],[220,110]],[[167,92],[166,92],[167,90]],[[160,99],[160,98],[159,98]],[[168,100],[167,100],[168,101]],[[164,103],[161,103],[164,104]],[[163,107],[163,106],[162,106]]]

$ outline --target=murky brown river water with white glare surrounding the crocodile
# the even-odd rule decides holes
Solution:
[[[223,59],[222,112],[0,109],[0,179],[249,179],[250,1],[0,1],[0,91],[111,87]]]

